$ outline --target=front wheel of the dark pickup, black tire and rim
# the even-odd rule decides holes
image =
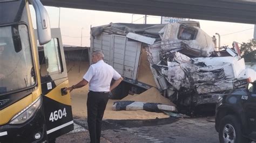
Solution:
[[[224,142],[249,142],[242,136],[241,123],[234,115],[227,115],[220,121],[219,141]]]

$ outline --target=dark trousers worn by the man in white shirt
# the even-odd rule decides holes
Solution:
[[[91,142],[100,142],[102,118],[106,109],[109,94],[89,91],[87,97],[87,123]]]

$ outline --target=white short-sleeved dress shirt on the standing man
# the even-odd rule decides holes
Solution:
[[[103,60],[92,64],[83,76],[89,82],[89,90],[96,92],[109,92],[112,78],[118,80],[120,77],[121,75]]]

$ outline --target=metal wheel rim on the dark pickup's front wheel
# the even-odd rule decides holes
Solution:
[[[224,142],[233,143],[235,141],[235,130],[231,124],[226,124],[223,128]]]

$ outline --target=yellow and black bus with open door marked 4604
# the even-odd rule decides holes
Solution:
[[[1,143],[50,142],[73,130],[70,94],[62,90],[69,82],[60,35],[39,0],[0,1]]]

